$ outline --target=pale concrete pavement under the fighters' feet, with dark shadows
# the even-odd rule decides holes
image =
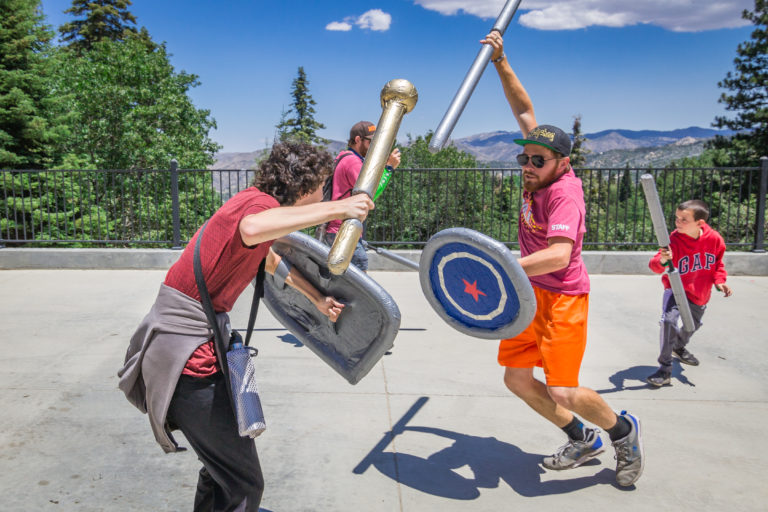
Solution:
[[[163,276],[0,271],[0,509],[191,510],[194,453],[163,454],[117,389]],[[676,365],[672,386],[649,389],[659,278],[592,276],[582,385],[644,427],[645,473],[621,489],[610,447],[575,470],[542,469],[565,436],[504,388],[496,343],[442,322],[417,273],[371,276],[402,324],[393,354],[356,386],[259,311],[263,511],[768,509],[768,277],[730,278],[734,296],[713,296],[690,346],[701,366]],[[236,327],[249,300],[232,313]]]

